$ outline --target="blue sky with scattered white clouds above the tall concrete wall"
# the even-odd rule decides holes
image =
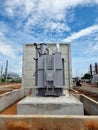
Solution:
[[[72,74],[98,63],[98,0],[0,0],[0,67],[22,73],[23,44],[71,43]]]

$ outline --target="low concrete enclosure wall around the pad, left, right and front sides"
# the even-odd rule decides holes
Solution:
[[[29,90],[19,89],[1,95],[0,111],[28,94]],[[98,102],[82,94],[74,96],[83,103],[84,111],[89,116],[2,115],[0,130],[98,130]]]

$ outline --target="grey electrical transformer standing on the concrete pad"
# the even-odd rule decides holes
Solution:
[[[61,96],[64,90],[64,59],[61,52],[49,54],[47,44],[35,44],[35,81],[39,96]]]

